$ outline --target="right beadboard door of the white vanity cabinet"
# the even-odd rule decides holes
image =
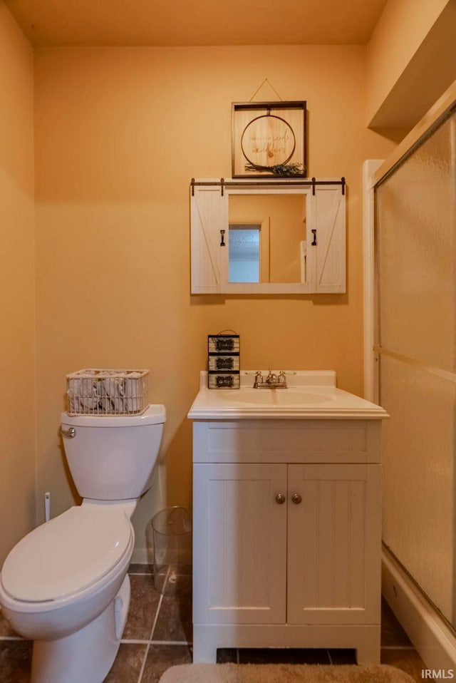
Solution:
[[[288,513],[287,621],[379,623],[380,466],[289,465]]]

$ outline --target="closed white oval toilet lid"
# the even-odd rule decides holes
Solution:
[[[1,583],[11,597],[26,602],[80,592],[120,562],[132,534],[123,508],[70,508],[19,541],[5,560]]]

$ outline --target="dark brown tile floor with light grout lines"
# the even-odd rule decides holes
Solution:
[[[131,604],[118,656],[105,683],[157,683],[174,664],[192,661],[192,604],[189,590],[161,595],[153,586],[149,565],[130,565]],[[386,603],[382,608],[381,662],[404,669],[422,682],[425,664]],[[352,664],[352,650],[224,649],[219,662],[293,662]],[[31,642],[21,640],[0,613],[0,682],[29,683]]]

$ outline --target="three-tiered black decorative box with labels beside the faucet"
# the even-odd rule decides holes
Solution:
[[[239,389],[239,334],[208,334],[209,389]]]

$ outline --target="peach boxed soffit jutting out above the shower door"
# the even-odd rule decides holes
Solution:
[[[366,123],[410,130],[456,78],[453,0],[388,0],[367,51]]]

